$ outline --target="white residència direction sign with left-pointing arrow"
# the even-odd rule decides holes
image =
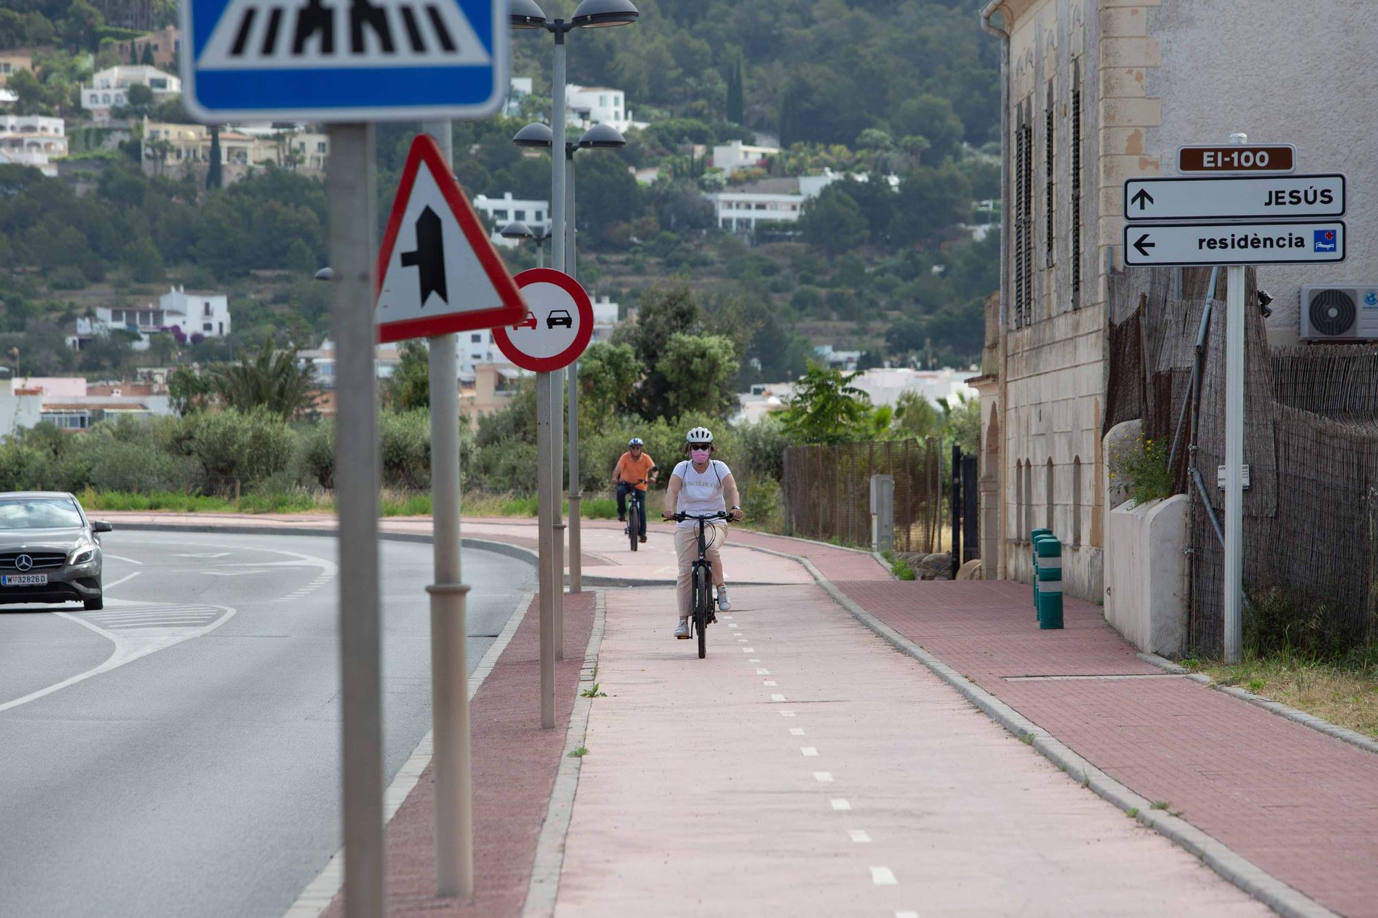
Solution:
[[[1294,265],[1345,261],[1344,221],[1309,223],[1131,223],[1129,266]]]

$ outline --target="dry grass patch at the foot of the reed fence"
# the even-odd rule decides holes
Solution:
[[[1334,662],[1277,652],[1246,657],[1229,666],[1182,660],[1218,685],[1239,685],[1275,702],[1315,714],[1331,724],[1378,739],[1378,646],[1355,651]]]

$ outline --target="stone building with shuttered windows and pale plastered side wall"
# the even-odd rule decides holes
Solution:
[[[991,0],[981,11],[1005,51],[1000,296],[973,383],[983,522],[998,524],[983,532],[987,576],[1027,580],[1028,532],[1047,527],[1064,543],[1065,590],[1102,593],[1107,276],[1123,270],[1126,179],[1171,175],[1180,145],[1233,131],[1295,143],[1299,171],[1348,172],[1352,243],[1339,269],[1258,270],[1275,298],[1269,340],[1295,343],[1302,284],[1378,283],[1366,6]]]

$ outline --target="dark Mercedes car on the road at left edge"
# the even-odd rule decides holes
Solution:
[[[61,491],[0,493],[0,604],[103,605],[101,532],[81,504]]]

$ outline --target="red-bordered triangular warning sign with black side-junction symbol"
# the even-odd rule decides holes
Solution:
[[[375,277],[379,342],[493,328],[526,316],[517,284],[429,134],[418,134],[407,154]]]

